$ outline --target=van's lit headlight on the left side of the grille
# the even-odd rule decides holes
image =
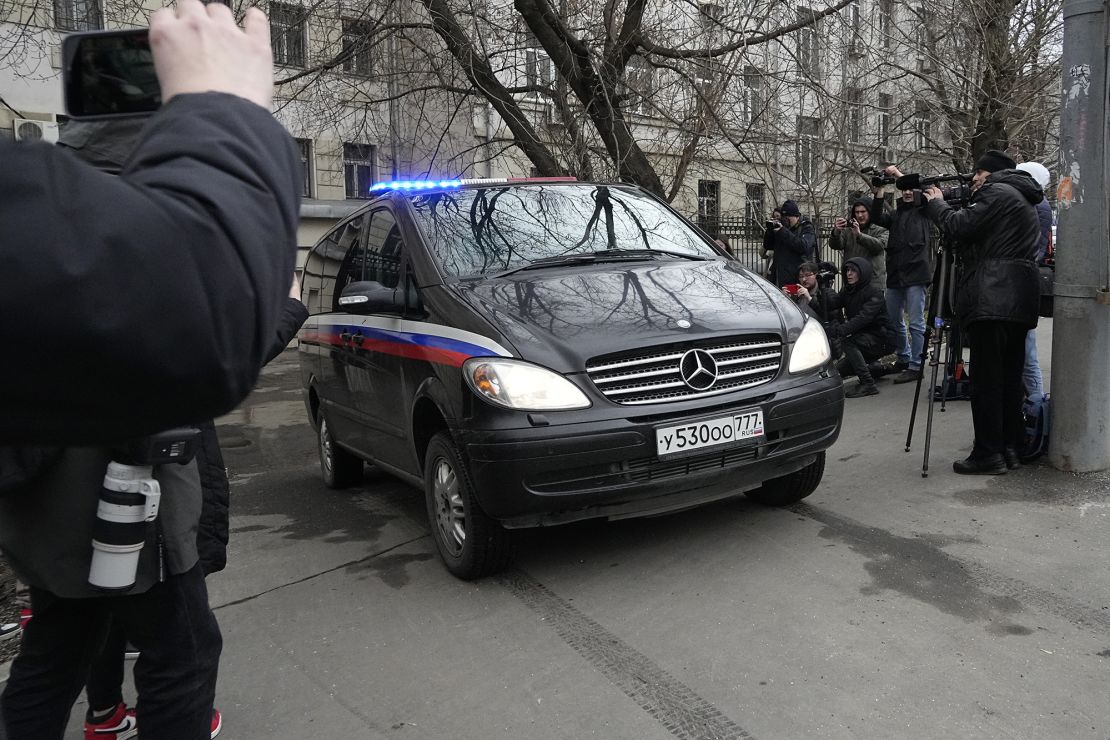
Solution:
[[[463,377],[482,398],[505,408],[539,412],[589,406],[589,398],[574,383],[519,359],[472,357],[463,363]]]

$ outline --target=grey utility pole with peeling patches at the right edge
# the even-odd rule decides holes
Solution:
[[[1107,30],[1104,1],[1064,0],[1049,436],[1061,470],[1110,468]]]

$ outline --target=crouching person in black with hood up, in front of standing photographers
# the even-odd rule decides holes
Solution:
[[[871,284],[872,275],[871,263],[866,257],[854,257],[845,263],[845,287],[835,294],[835,307],[844,311],[845,321],[827,328],[829,337],[844,353],[837,369],[841,375],[859,378],[856,387],[844,394],[848,398],[878,395],[879,388],[867,364],[895,348],[894,323],[887,314],[882,291]]]

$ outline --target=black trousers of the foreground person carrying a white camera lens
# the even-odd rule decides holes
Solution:
[[[208,740],[223,639],[199,565],[135,596],[63,599],[32,588],[31,609],[0,696],[11,740],[61,740],[113,621],[141,651],[139,737]]]

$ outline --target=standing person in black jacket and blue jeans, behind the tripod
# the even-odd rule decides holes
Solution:
[[[902,176],[892,164],[882,172],[888,178]],[[876,187],[871,199],[871,223],[890,232],[886,300],[887,313],[898,332],[896,368],[901,371],[895,376],[895,383],[911,383],[921,376],[925,352],[925,303],[932,282],[932,222],[925,209],[915,203],[912,190],[901,191],[894,213],[886,212],[885,203],[881,187]]]

